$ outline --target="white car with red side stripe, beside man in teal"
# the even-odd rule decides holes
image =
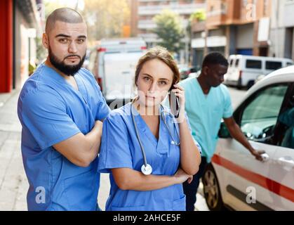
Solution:
[[[265,161],[229,136],[222,123],[215,155],[203,174],[210,210],[294,210],[294,66],[256,83],[234,119]]]

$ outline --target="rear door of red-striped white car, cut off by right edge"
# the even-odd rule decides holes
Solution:
[[[294,85],[283,105],[276,125],[277,145],[269,168],[273,176],[273,205],[276,210],[294,210]]]

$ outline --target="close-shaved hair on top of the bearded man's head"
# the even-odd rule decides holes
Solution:
[[[65,23],[85,23],[81,14],[72,8],[58,8],[55,9],[47,18],[45,32],[49,34],[56,23],[61,21]]]

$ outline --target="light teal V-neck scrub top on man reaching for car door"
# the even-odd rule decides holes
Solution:
[[[211,162],[218,141],[222,118],[232,117],[233,109],[229,90],[224,84],[211,87],[207,95],[195,77],[184,79],[185,110],[192,127],[192,136],[202,149],[202,155]]]

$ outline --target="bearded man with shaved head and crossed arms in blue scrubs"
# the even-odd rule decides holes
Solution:
[[[48,58],[18,100],[28,210],[96,210],[102,120],[109,108],[86,55],[86,23],[69,8],[48,16]]]

